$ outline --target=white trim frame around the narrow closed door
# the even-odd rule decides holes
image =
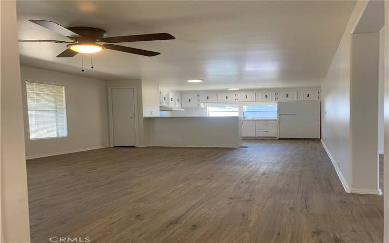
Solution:
[[[112,89],[114,88],[132,88],[134,90],[134,117],[135,117],[135,147],[139,146],[139,116],[138,116],[138,93],[135,86],[109,86],[108,91],[108,118],[109,118],[109,147],[113,144],[113,114],[112,114]]]

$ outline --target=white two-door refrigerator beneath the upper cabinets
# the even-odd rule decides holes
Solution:
[[[320,101],[280,101],[280,139],[320,139]]]

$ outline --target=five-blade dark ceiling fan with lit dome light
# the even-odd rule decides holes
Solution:
[[[62,40],[19,40],[20,42],[54,42],[54,43],[70,43],[66,47],[65,51],[61,52],[57,57],[72,57],[78,52],[81,53],[94,53],[100,52],[104,49],[115,50],[119,52],[128,52],[143,56],[156,56],[159,52],[152,52],[132,47],[119,46],[114,44],[97,44],[100,42],[105,43],[121,43],[121,42],[134,42],[134,41],[150,41],[150,40],[172,40],[176,39],[173,35],[167,33],[156,33],[146,35],[124,35],[114,37],[106,36],[106,31],[92,27],[69,27],[65,28],[53,21],[47,20],[33,20],[31,22],[45,27],[60,35],[64,35],[72,41]]]

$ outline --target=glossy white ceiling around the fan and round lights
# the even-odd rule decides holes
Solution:
[[[166,32],[175,40],[120,43],[155,57],[104,50],[56,58],[64,43],[19,43],[25,66],[105,80],[142,79],[175,90],[319,85],[354,1],[18,1],[19,39],[66,37],[28,21],[105,29],[108,36]],[[190,78],[204,79],[190,84]]]

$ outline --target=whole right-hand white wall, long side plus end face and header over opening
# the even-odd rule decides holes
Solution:
[[[322,84],[322,140],[346,191],[377,194],[382,1],[357,1]],[[368,28],[369,27],[369,28]]]

